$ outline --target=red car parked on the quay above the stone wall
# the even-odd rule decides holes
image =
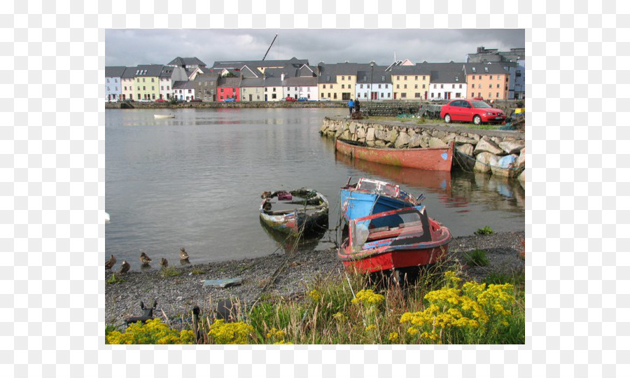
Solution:
[[[484,122],[503,122],[505,113],[479,100],[458,99],[442,106],[440,118],[443,118],[445,123],[472,121],[475,125],[479,125]]]

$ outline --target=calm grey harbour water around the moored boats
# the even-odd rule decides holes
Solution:
[[[155,113],[176,118],[155,120]],[[159,267],[161,257],[179,263],[181,246],[193,263],[286,250],[260,225],[262,191],[314,188],[328,197],[334,227],[348,176],[424,193],[429,216],[454,236],[484,225],[524,230],[525,191],[517,181],[349,160],[318,134],[323,118],[337,115],[345,109],[106,110],[106,254],[137,269],[141,251]],[[302,248],[330,246],[321,240]]]

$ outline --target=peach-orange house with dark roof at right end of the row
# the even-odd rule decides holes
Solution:
[[[510,74],[501,63],[465,63],[468,98],[508,99]]]

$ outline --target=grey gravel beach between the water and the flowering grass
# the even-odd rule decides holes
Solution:
[[[521,239],[525,232],[500,232],[492,235],[472,235],[456,237],[449,247],[449,258],[465,265],[465,254],[475,249],[486,251],[489,264],[485,267],[467,267],[464,274],[477,281],[491,273],[511,274],[524,272],[525,261],[519,257],[522,250]],[[273,254],[263,258],[214,262],[208,264],[180,265],[171,262],[171,267],[181,274],[163,277],[159,269],[139,268],[139,262],[132,263],[132,270],[119,275],[120,262],[113,267],[113,273],[123,279],[118,283],[105,284],[105,323],[121,325],[125,318],[141,316],[140,301],[150,304],[158,301],[153,316],[162,320],[168,318],[172,325],[178,319],[188,318],[193,306],[200,307],[202,314],[211,310],[211,303],[218,300],[239,298],[251,304],[259,297],[265,286],[265,295],[296,297],[302,295],[307,283],[319,276],[342,274],[342,264],[338,262],[335,249],[326,251],[300,251],[293,255]],[[158,267],[158,262],[152,262]],[[272,283],[271,277],[276,274]],[[135,269],[135,270],[134,270]],[[106,273],[106,280],[111,278]],[[215,288],[203,286],[204,280],[242,278],[239,286]]]

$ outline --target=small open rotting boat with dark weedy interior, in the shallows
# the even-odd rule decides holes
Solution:
[[[317,234],[328,227],[328,200],[309,188],[262,193],[260,220],[290,235]]]

